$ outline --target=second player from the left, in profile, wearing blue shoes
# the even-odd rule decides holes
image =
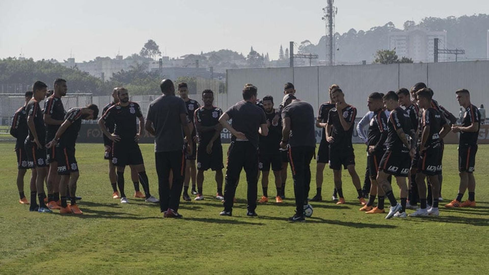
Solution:
[[[46,128],[44,125],[43,112],[39,107],[39,101],[44,99],[47,85],[42,81],[36,81],[32,86],[33,97],[27,103],[28,135],[25,138],[24,148],[27,154],[28,167],[36,170],[36,190],[39,205],[31,198],[29,211],[39,213],[52,213],[52,210],[44,204],[44,178],[46,177]]]

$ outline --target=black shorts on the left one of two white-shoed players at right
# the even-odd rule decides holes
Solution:
[[[409,176],[409,168],[411,163],[411,157],[407,150],[387,150],[380,160],[379,171],[391,174],[394,177],[407,177]]]

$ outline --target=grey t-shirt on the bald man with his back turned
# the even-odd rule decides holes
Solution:
[[[187,114],[187,107],[183,99],[175,95],[162,95],[150,103],[146,119],[155,127],[155,152],[183,149],[181,114]]]

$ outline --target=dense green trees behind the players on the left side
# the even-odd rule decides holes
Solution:
[[[111,79],[102,82],[88,72],[70,69],[46,60],[18,60],[6,58],[0,60],[1,84],[33,84],[37,80],[45,82],[52,88],[56,78],[64,78],[68,83],[68,92],[88,92],[93,95],[107,95],[117,86],[126,87],[131,94],[158,94],[161,77],[157,72],[146,71],[144,64],[135,65],[131,70],[121,70],[112,75]],[[177,79],[176,82],[187,81],[195,86],[195,78]],[[21,91],[22,92],[22,91]]]

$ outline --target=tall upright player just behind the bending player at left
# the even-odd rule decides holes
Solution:
[[[44,124],[46,124],[46,143],[51,141],[65,120],[65,107],[61,97],[66,95],[68,90],[66,80],[56,78],[54,80],[53,94],[44,101]],[[47,207],[49,209],[60,208],[60,177],[58,176],[58,161],[56,158],[56,148],[46,148],[46,160],[49,164],[47,174]]]

